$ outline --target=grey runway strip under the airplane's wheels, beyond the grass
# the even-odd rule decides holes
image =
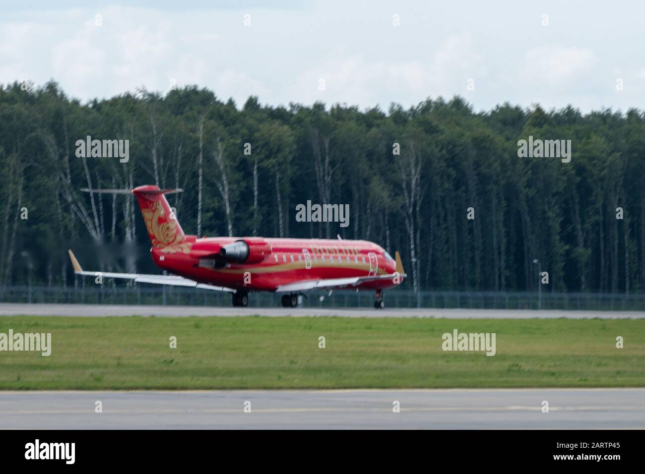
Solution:
[[[339,316],[447,319],[642,319],[645,311],[564,311],[564,310],[442,310],[433,308],[219,308],[210,306],[141,306],[101,304],[21,304],[1,303],[0,316]]]

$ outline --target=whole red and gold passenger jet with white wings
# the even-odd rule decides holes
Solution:
[[[134,194],[152,241],[152,259],[173,275],[84,272],[69,250],[77,275],[228,291],[233,306],[246,306],[249,291],[284,293],[283,306],[295,307],[303,291],[355,288],[375,291],[375,308],[385,306],[382,291],[398,286],[406,276],[399,252],[393,259],[368,241],[186,235],[165,197],[181,190],[139,186],[132,191],[84,191]]]

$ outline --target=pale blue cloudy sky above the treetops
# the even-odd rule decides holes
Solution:
[[[0,83],[88,101],[197,84],[242,106],[461,95],[645,110],[638,1],[0,0]]]

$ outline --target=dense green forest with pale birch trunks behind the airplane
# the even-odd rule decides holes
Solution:
[[[88,136],[128,140],[128,161],[77,156]],[[530,136],[571,140],[570,163],[520,157]],[[640,292],[644,156],[635,109],[238,106],[197,86],[81,103],[6,84],[0,287],[77,284],[70,245],[88,268],[151,271],[134,199],[81,188],[157,184],[184,189],[169,201],[186,233],[366,239],[401,252],[415,290],[533,290],[540,269],[543,291]],[[307,201],[349,204],[349,225],[296,221]]]

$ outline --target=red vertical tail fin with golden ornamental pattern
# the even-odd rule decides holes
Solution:
[[[159,186],[139,186],[132,190],[132,194],[139,202],[153,247],[179,245],[185,240],[186,235],[165,196],[181,191],[180,189],[161,190]]]

